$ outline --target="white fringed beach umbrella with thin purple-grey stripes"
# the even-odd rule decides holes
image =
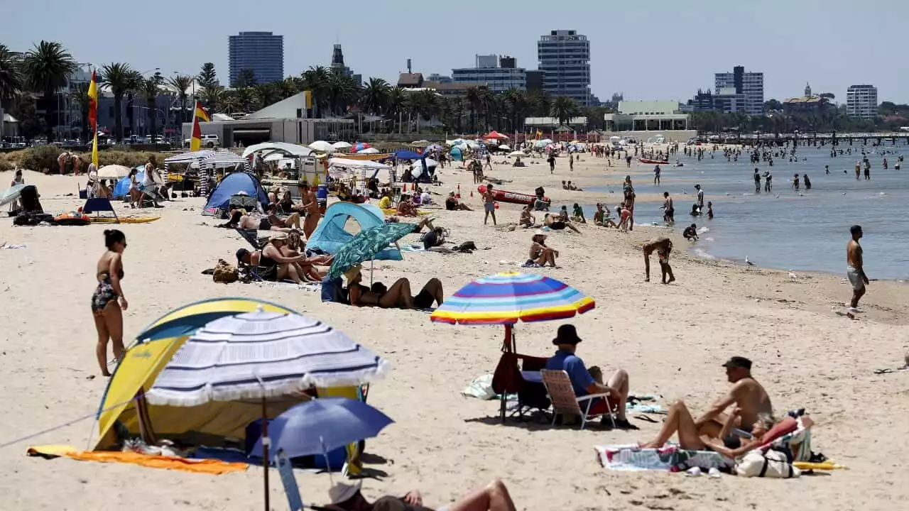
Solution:
[[[389,369],[384,358],[321,321],[260,310],[197,330],[145,397],[152,405],[199,406],[362,385]]]

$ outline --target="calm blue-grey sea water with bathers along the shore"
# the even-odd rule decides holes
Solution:
[[[846,149],[848,144],[839,145]],[[662,184],[638,177],[634,189],[641,193],[669,192],[674,199],[675,229],[697,224],[700,240],[690,246],[696,255],[744,263],[747,256],[757,266],[791,270],[845,273],[845,246],[849,227],[862,225],[864,267],[870,278],[909,279],[909,147],[903,141],[879,147],[864,146],[871,162],[871,180],[855,180],[854,165],[861,159],[862,145],[852,145],[853,155],[830,157],[830,146],[799,146],[799,160],[774,158],[749,163],[748,155],[728,162],[721,152],[698,162],[679,155],[683,167],[664,167]],[[884,151],[891,152],[884,154]],[[901,170],[894,170],[898,155],[904,155]],[[890,168],[884,170],[887,158]],[[674,161],[674,158],[673,158]],[[824,174],[830,165],[830,175]],[[771,193],[754,193],[754,167],[770,170],[774,176]],[[844,171],[846,171],[844,173]],[[801,177],[801,192],[792,188],[794,174]],[[804,189],[804,175],[812,189]],[[714,219],[690,215],[696,191],[704,189],[704,203],[714,203]],[[616,189],[616,200],[621,188]],[[687,195],[685,195],[687,194]],[[614,207],[613,204],[610,204]],[[662,225],[662,204],[642,203],[635,211],[635,223]],[[586,208],[585,208],[586,210]],[[593,210],[589,213],[591,217]]]

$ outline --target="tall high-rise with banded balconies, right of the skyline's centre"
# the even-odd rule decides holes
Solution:
[[[590,105],[590,41],[574,30],[553,30],[536,43],[539,69],[549,95],[567,95]]]

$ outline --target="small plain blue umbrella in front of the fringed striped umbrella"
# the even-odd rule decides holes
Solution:
[[[336,448],[378,436],[394,423],[391,418],[357,399],[322,397],[292,406],[268,425],[272,446],[288,457],[325,455]],[[262,438],[251,456],[262,456]]]

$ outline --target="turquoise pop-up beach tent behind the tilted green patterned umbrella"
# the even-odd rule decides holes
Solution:
[[[318,248],[328,254],[336,254],[342,246],[354,239],[354,234],[347,232],[347,220],[353,218],[363,231],[375,225],[385,224],[385,213],[375,205],[338,202],[325,210],[325,217],[309,236],[306,248]],[[397,248],[385,248],[375,254],[375,259],[400,261],[401,251]]]

